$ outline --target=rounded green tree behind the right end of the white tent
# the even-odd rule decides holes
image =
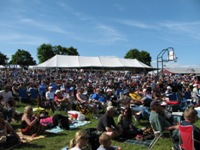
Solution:
[[[147,51],[139,51],[138,49],[129,50],[124,58],[137,59],[142,63],[151,66],[151,56]]]

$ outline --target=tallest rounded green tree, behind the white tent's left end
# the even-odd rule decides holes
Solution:
[[[55,56],[55,53],[51,44],[44,43],[37,48],[37,57],[39,63],[43,63],[44,61],[50,59],[53,56]]]

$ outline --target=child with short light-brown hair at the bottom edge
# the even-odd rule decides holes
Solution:
[[[102,133],[99,137],[100,146],[97,148],[97,150],[122,150],[121,147],[112,146],[111,140],[112,139],[109,135],[107,135],[106,133]]]

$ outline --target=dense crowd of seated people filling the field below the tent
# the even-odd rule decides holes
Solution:
[[[96,126],[97,132],[102,135],[99,150],[110,147],[110,139],[142,134],[134,126],[133,119],[150,120],[157,130],[178,130],[165,109],[171,93],[180,93],[194,106],[199,105],[200,84],[195,75],[158,78],[156,75],[124,71],[5,69],[0,70],[0,79],[0,112],[6,124],[11,124],[19,115],[17,101],[28,105],[21,118],[21,131],[32,136],[44,133],[40,118],[34,116],[29,106],[32,103],[48,107],[53,113],[56,110],[74,110],[81,105],[99,119]],[[103,114],[99,114],[100,110]],[[116,114],[117,123],[114,121]],[[83,131],[77,132],[71,147],[81,149],[86,136]]]

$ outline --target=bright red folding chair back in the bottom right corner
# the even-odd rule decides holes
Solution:
[[[194,137],[193,137],[193,126],[179,125],[179,134],[180,134],[180,149],[183,150],[195,150],[194,147]]]

